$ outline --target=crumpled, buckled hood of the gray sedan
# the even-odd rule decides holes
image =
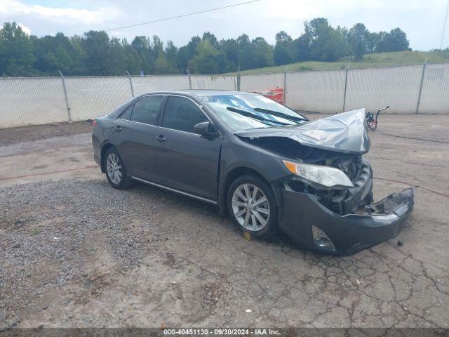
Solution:
[[[295,126],[257,128],[234,133],[243,138],[286,137],[323,150],[363,154],[370,150],[365,109],[342,112]]]

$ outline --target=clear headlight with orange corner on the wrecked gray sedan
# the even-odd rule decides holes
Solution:
[[[316,183],[323,187],[354,187],[343,171],[334,167],[311,165],[283,160],[288,171],[302,178],[305,182]]]

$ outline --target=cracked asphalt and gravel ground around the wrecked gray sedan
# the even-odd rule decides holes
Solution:
[[[447,119],[385,115],[379,128],[447,142]],[[114,190],[90,126],[53,128],[0,130],[0,328],[449,328],[447,197],[418,187],[396,239],[326,256],[283,235],[247,241],[198,201]],[[375,177],[448,194],[448,144],[370,137]],[[406,187],[376,179],[375,199]]]

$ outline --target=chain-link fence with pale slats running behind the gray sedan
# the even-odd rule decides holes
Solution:
[[[288,107],[449,114],[449,63],[273,74],[0,78],[0,128],[94,119],[135,95],[175,89],[269,91]]]

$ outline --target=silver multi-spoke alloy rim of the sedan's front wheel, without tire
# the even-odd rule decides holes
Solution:
[[[250,232],[262,230],[269,223],[269,202],[264,192],[253,184],[242,184],[232,194],[232,211],[239,224]]]

